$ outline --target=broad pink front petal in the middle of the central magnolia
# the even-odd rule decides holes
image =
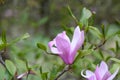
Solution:
[[[58,49],[59,52],[62,52],[62,54],[60,54],[60,57],[63,59],[63,61],[66,64],[69,64],[69,52],[70,52],[70,43],[68,42],[68,40],[57,36],[56,37],[56,47]]]

